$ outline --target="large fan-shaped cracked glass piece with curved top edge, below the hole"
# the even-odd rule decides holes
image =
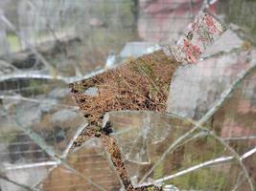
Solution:
[[[172,114],[135,111],[110,112],[106,118],[111,122],[114,131],[111,136],[117,140],[134,186],[162,182],[172,184],[175,177],[161,179],[203,163],[208,167],[224,161],[231,162],[232,155],[226,147],[205,131],[194,131],[175,145],[175,142],[195,125],[185,118]],[[224,161],[217,162],[215,159],[217,161],[224,159]],[[230,165],[233,166],[233,163]],[[202,173],[196,171],[195,176],[184,182],[182,178],[178,179],[174,185],[180,189],[204,190],[215,186],[223,188],[221,184],[224,180],[225,186],[230,187],[232,186],[230,173],[223,171],[222,168],[218,167],[218,170],[216,166],[203,168]],[[191,172],[194,170],[189,171]],[[221,174],[220,179],[210,182],[212,177],[218,177],[219,174]],[[207,179],[204,180],[206,175],[208,175]],[[237,175],[234,173],[232,176]],[[200,181],[201,179],[203,182]],[[186,182],[188,186],[192,180],[193,185],[186,187]]]

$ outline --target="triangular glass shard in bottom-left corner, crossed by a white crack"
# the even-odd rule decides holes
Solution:
[[[8,180],[1,178],[2,190],[28,190],[47,176],[57,164],[37,142],[15,124],[10,116],[1,113],[0,170]],[[15,182],[16,184],[14,184]],[[24,186],[20,187],[19,184]]]

